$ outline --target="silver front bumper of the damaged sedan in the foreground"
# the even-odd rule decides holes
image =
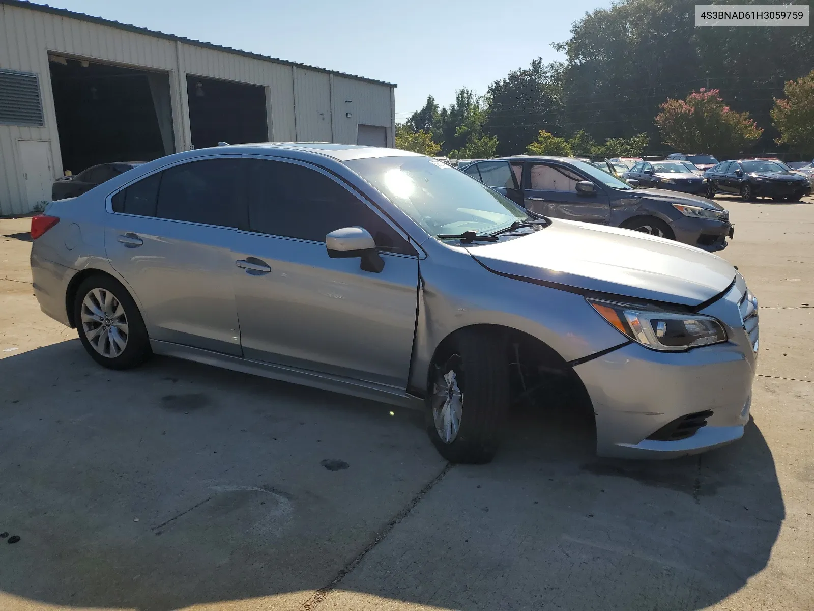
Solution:
[[[749,421],[756,354],[746,331],[733,341],[669,353],[632,343],[574,367],[597,424],[597,454],[665,459],[733,442]],[[691,437],[650,439],[686,415],[711,411]],[[658,437],[658,436],[656,436]]]

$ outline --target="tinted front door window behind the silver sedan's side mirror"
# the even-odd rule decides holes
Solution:
[[[325,174],[282,161],[248,163],[251,231],[324,243],[331,231],[361,226],[380,250],[416,254],[387,222]]]

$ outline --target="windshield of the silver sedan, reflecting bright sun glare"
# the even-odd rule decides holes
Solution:
[[[375,157],[345,165],[434,236],[497,231],[528,218],[507,197],[429,157]]]

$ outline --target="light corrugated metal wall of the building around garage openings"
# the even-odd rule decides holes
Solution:
[[[0,68],[38,75],[45,118],[42,127],[0,125],[0,215],[33,209],[20,169],[19,140],[50,142],[54,178],[63,174],[49,52],[169,73],[177,151],[190,146],[187,73],[265,86],[269,140],[357,143],[357,124],[364,123],[387,126],[393,146],[392,86],[0,4]]]

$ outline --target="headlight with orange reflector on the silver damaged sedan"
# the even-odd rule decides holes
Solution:
[[[726,341],[724,325],[704,314],[648,310],[613,301],[589,299],[594,310],[632,341],[666,352]]]

